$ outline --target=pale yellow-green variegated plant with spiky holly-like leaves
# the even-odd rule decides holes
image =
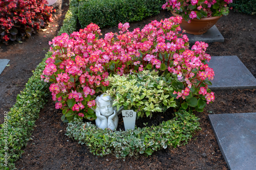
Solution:
[[[137,116],[152,116],[153,112],[165,112],[169,107],[175,107],[170,73],[159,76],[158,72],[149,70],[133,75],[113,75],[108,77],[107,94],[113,97],[113,106],[117,110],[124,106],[125,110],[134,110]]]

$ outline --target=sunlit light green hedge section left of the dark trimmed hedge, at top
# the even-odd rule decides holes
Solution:
[[[60,32],[58,35],[62,33],[71,34],[77,29],[77,0],[69,0],[69,10],[65,15],[65,19],[63,20],[63,25],[60,28]]]

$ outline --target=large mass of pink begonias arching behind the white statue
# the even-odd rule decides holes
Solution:
[[[120,23],[119,34],[110,32],[100,39],[101,30],[91,23],[70,36],[62,33],[52,39],[52,57],[46,60],[41,78],[53,82],[50,91],[56,109],[63,110],[62,121],[74,117],[94,120],[94,99],[106,91],[108,75],[122,76],[145,69],[172,73],[170,95],[176,104],[202,111],[206,103],[214,100],[207,86],[214,78],[214,71],[206,64],[211,57],[205,53],[208,44],[204,42],[196,42],[188,49],[187,36],[178,33],[181,19],[154,20],[132,32],[129,23]]]

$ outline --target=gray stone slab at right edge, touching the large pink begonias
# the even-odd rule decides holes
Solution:
[[[237,56],[213,56],[207,64],[215,73],[211,90],[256,88],[255,77]]]

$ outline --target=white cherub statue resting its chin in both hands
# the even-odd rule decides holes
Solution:
[[[109,95],[101,94],[95,99],[97,118],[95,119],[97,127],[101,129],[110,128],[114,130],[118,125],[118,116],[116,110],[112,107],[112,97]]]

